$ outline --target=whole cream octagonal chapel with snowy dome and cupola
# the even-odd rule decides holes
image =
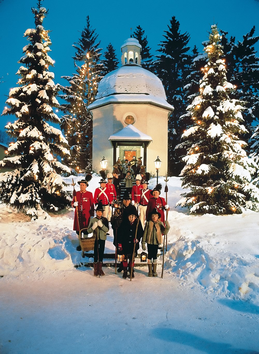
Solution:
[[[161,80],[141,67],[141,45],[135,38],[121,46],[122,66],[105,75],[88,110],[93,118],[92,166],[98,171],[103,156],[112,171],[118,157],[142,157],[148,172],[162,161],[167,171],[168,117],[174,107],[167,102]]]

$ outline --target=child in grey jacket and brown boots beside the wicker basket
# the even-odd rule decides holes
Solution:
[[[103,205],[100,201],[96,208],[96,217],[92,218],[89,223],[87,232],[93,233],[95,236],[94,244],[94,276],[105,275],[102,270],[103,254],[105,249],[105,240],[109,231],[109,222],[103,217]]]

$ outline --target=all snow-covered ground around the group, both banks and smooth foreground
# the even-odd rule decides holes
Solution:
[[[174,207],[180,179],[168,189],[163,279],[161,266],[158,278],[147,267],[131,282],[113,268],[95,278],[74,268],[87,259],[73,210],[30,222],[1,205],[0,353],[259,353],[259,213],[190,216]]]

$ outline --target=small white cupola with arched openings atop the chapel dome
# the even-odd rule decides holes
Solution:
[[[120,47],[122,50],[122,65],[141,65],[141,45],[136,38],[128,38]]]

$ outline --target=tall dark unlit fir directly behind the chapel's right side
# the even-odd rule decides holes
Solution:
[[[152,71],[161,79],[167,101],[174,106],[174,112],[168,121],[168,169],[170,175],[179,175],[176,170],[175,146],[180,142],[182,128],[179,126],[179,118],[186,110],[183,100],[183,87],[186,84],[188,68],[191,65],[191,56],[187,53],[190,47],[188,33],[180,33],[180,23],[173,16],[168,30],[164,31],[165,40],[159,44],[158,52],[152,63]]]

